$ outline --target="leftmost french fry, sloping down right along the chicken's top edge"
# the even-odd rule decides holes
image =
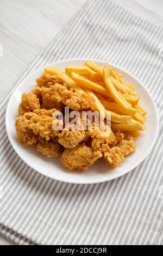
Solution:
[[[62,72],[60,69],[49,66],[48,68],[45,68],[44,71],[49,75],[57,75],[58,77],[60,77],[62,82],[66,83],[69,88],[74,89],[75,92],[79,94],[85,94],[84,90],[80,86],[78,86],[78,84],[74,82],[71,77]]]

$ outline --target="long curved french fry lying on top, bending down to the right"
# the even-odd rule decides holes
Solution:
[[[118,105],[120,105],[124,109],[128,109],[129,107],[131,107],[131,104],[120,96],[120,94],[112,84],[111,77],[110,77],[110,70],[107,63],[104,65],[104,82],[105,82],[106,88],[109,90],[111,97],[115,100],[115,102]]]

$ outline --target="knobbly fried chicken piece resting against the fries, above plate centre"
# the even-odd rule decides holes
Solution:
[[[79,95],[72,92],[72,90],[64,90],[62,92],[62,102],[72,110],[79,111],[92,108],[95,100],[86,94]]]

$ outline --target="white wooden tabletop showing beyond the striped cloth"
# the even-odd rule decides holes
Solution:
[[[0,96],[21,76],[37,54],[50,42],[87,0],[0,1]],[[162,0],[116,0],[133,6],[163,24]]]

